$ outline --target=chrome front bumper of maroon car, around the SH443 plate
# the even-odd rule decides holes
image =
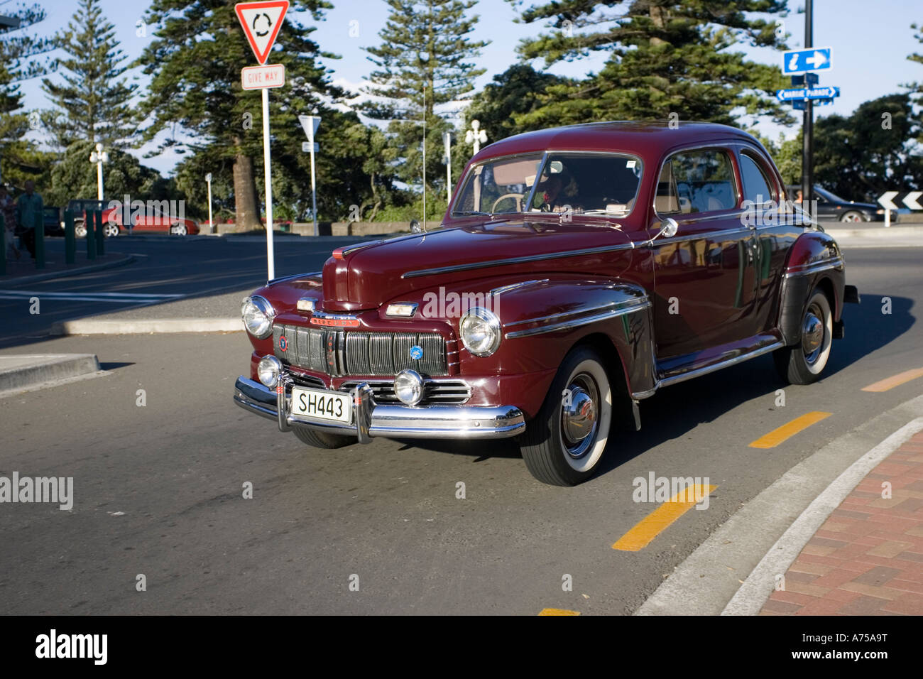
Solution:
[[[275,420],[282,431],[292,427],[356,436],[369,443],[374,436],[396,439],[505,439],[525,430],[525,418],[515,406],[404,406],[377,404],[367,384],[356,388],[353,423],[324,422],[292,415],[291,383],[282,390],[238,377],[234,403]]]

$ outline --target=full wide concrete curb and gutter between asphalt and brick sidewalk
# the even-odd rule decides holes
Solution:
[[[923,412],[923,396],[827,443],[740,507],[654,590],[635,615],[719,615],[798,516],[848,467]],[[858,481],[857,481],[858,482]],[[785,498],[785,502],[780,499]],[[796,553],[797,556],[797,553]],[[783,573],[785,571],[782,571]],[[761,583],[766,598],[773,577]]]

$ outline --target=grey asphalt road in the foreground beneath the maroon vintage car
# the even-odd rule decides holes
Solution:
[[[260,253],[222,247],[258,285]],[[148,264],[101,273],[97,284],[149,271],[149,292],[204,285],[200,272],[158,264],[154,249],[145,250]],[[203,267],[215,285],[241,285],[222,253],[210,253]],[[0,505],[4,611],[633,612],[742,503],[822,445],[920,394],[923,380],[860,391],[923,365],[920,253],[846,249],[847,282],[863,303],[846,308],[846,338],[821,382],[785,386],[763,357],[667,388],[642,403],[641,432],[614,437],[602,472],[571,489],[535,482],[509,443],[306,448],[232,404],[249,356],[243,333],[32,339],[30,353],[96,353],[108,372],[0,400],[0,476],[73,477],[75,488],[69,512]],[[292,257],[304,269],[313,263]],[[892,313],[881,312],[882,297]],[[139,389],[146,406],[137,405]],[[832,415],[775,448],[748,446],[815,410]],[[641,551],[615,551],[656,506],[631,498],[632,480],[650,472],[717,488],[708,509],[682,515]],[[139,574],[146,591],[136,588]]]

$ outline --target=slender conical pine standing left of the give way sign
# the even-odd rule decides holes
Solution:
[[[54,42],[65,54],[55,60],[58,78],[42,80],[54,104],[42,116],[54,145],[66,149],[75,141],[90,141],[109,150],[126,147],[135,130],[131,99],[138,85],[120,78],[126,56],[115,27],[102,17],[99,0],[80,0]]]

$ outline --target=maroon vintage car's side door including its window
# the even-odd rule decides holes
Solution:
[[[730,146],[682,149],[658,176],[651,231],[677,221],[677,234],[653,241],[653,316],[665,372],[720,353],[753,333],[754,236],[743,223]]]

